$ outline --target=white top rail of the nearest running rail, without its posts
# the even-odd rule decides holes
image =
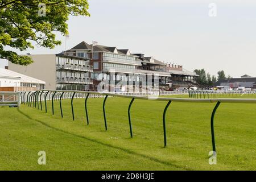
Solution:
[[[108,95],[115,97],[123,98],[135,98],[139,100],[156,100],[156,101],[173,101],[173,102],[204,102],[204,103],[216,103],[216,102],[225,102],[225,103],[256,103],[254,98],[173,98],[173,97],[141,97],[141,96],[127,96],[122,94],[108,93],[108,92],[90,92],[90,91],[80,91],[80,90],[41,90],[49,92],[76,92],[76,93],[89,93],[89,94],[98,94],[98,95]]]

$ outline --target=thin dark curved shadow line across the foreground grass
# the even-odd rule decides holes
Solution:
[[[101,144],[101,145],[106,146],[106,147],[111,147],[111,148],[114,148],[114,149],[117,149],[117,150],[121,150],[121,151],[126,152],[128,154],[137,155],[139,157],[142,157],[142,158],[145,158],[145,159],[148,159],[148,160],[152,160],[152,161],[157,162],[157,163],[165,164],[167,166],[172,166],[172,167],[175,167],[175,168],[185,169],[185,170],[188,170],[188,171],[192,171],[192,169],[190,169],[190,168],[180,167],[180,166],[177,166],[177,165],[172,164],[170,162],[166,162],[166,161],[163,161],[163,160],[160,160],[160,159],[152,158],[151,156],[147,156],[147,155],[139,154],[139,153],[131,151],[131,150],[127,150],[126,148],[121,148],[121,147],[113,146],[111,144],[103,143],[103,142],[100,142],[100,141],[95,140],[95,139],[87,138],[87,137],[84,137],[84,136],[81,136],[81,135],[70,133],[70,132],[65,131],[65,130],[57,129],[56,127],[52,127],[52,126],[48,125],[47,123],[45,123],[43,121],[40,121],[39,119],[31,118],[26,113],[23,113],[19,108],[18,108],[18,111],[19,111],[20,114],[24,115],[28,119],[31,119],[32,121],[39,122],[42,125],[47,126],[47,127],[51,128],[53,130],[60,131],[60,132],[65,133],[65,134],[73,135],[75,137],[79,137],[79,138],[82,138],[82,139],[86,139],[86,140],[89,140],[91,142],[95,142],[95,143]]]

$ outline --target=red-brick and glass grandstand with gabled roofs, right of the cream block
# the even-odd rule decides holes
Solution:
[[[117,47],[101,46],[81,42],[77,46],[63,52],[64,55],[82,57],[90,60],[93,66],[93,84],[90,90],[97,90],[102,80],[108,80],[106,90],[114,90],[118,82],[127,85],[139,85],[142,88],[144,82],[150,81],[151,86],[165,88],[171,84],[189,86],[195,82],[197,76],[194,72],[185,71],[180,65],[171,65],[145,57],[143,53],[131,53],[129,49],[118,49]],[[129,90],[127,90],[129,91]],[[129,91],[129,92],[130,92]]]

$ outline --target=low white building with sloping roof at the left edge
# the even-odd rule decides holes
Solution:
[[[26,76],[9,69],[0,68],[0,88],[20,88],[15,91],[22,90],[38,90],[44,89],[46,85],[45,81],[38,80],[36,78]],[[29,89],[33,88],[33,89]]]

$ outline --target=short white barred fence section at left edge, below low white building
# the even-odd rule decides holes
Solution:
[[[20,106],[19,92],[0,92],[0,106]]]

